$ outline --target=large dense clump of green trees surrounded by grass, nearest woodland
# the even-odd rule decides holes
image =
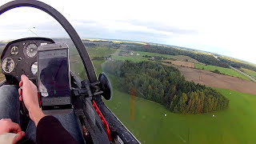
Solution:
[[[120,89],[126,93],[158,102],[174,113],[201,114],[229,105],[218,91],[188,82],[177,68],[159,62],[107,61],[103,70],[121,78]]]

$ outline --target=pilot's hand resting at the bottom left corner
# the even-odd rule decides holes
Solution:
[[[5,133],[18,134],[18,136],[14,138],[13,143],[17,143],[25,136],[25,132],[22,131],[21,127],[18,126],[17,123],[11,122],[10,118],[2,118],[0,120],[0,135]]]

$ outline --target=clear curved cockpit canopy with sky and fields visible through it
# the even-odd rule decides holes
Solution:
[[[97,76],[110,78],[106,106],[141,143],[256,141],[253,4],[42,2],[77,30]],[[74,43],[40,10],[10,10],[0,30],[1,50],[26,37],[66,43],[70,70],[87,79]]]

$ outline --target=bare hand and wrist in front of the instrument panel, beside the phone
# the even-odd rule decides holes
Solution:
[[[20,95],[19,100],[24,101],[26,109],[29,111],[30,119],[34,121],[35,126],[38,126],[40,119],[45,116],[39,108],[38,88],[24,74],[21,76],[19,86],[22,87],[22,90],[21,88],[18,89],[18,94]]]

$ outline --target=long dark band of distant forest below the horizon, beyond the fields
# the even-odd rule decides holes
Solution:
[[[170,55],[186,55],[190,58],[196,59],[198,62],[205,63],[207,65],[213,66],[221,66],[229,68],[229,66],[225,62],[219,62],[217,58],[214,58],[213,55],[210,54],[196,54],[194,52],[188,50],[178,50],[172,47],[166,46],[152,46],[152,45],[126,45],[128,50],[134,51],[146,51],[150,53],[158,53],[158,54],[170,54]]]

